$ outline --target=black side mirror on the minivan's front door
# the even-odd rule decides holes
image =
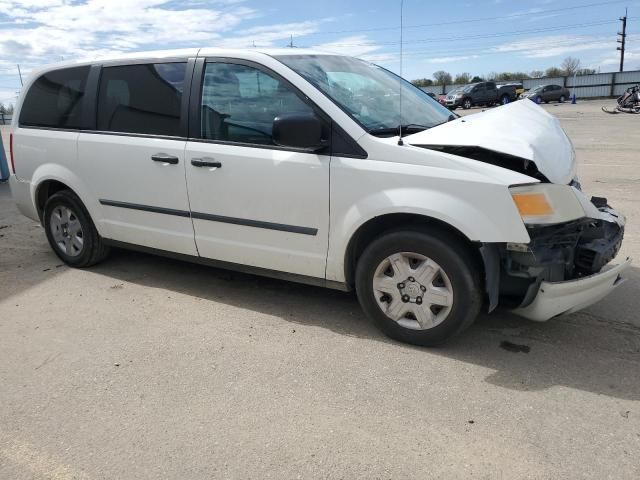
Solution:
[[[273,142],[281,147],[316,152],[327,145],[322,122],[314,113],[283,113],[273,119]]]

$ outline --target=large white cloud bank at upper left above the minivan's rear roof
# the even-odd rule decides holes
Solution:
[[[190,2],[178,8],[166,0],[0,0],[0,15],[13,21],[3,29],[10,42],[0,54],[21,63],[153,47],[213,43],[257,12],[238,2]],[[217,8],[216,8],[217,7]]]

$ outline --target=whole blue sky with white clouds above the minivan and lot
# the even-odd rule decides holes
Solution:
[[[640,0],[404,0],[402,76],[640,70]],[[400,0],[0,0],[0,103],[39,65],[183,47],[313,47],[400,72]]]

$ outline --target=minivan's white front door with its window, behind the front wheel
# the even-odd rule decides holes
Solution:
[[[186,174],[200,256],[324,278],[330,156],[278,147],[271,136],[275,117],[313,107],[278,75],[239,60],[207,61],[196,85],[199,139],[187,143]]]

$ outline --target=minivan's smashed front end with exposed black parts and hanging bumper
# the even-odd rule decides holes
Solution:
[[[592,198],[589,210],[591,216],[565,223],[528,225],[528,244],[485,246],[499,264],[496,303],[545,321],[591,305],[618,286],[630,260],[608,264],[622,245],[624,217],[603,198]]]

